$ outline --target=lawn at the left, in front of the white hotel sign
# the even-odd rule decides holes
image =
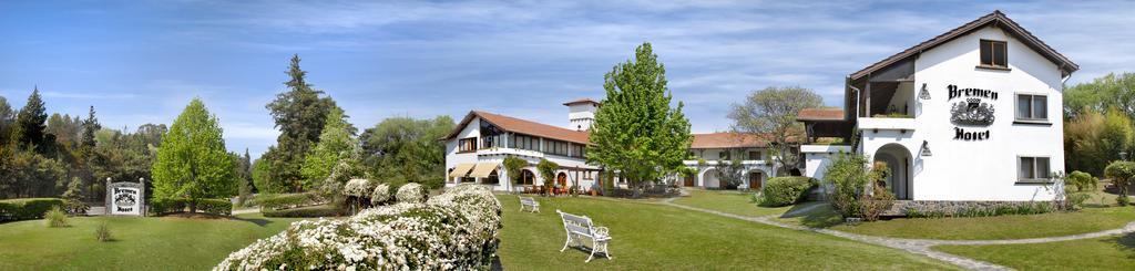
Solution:
[[[229,253],[300,219],[243,214],[236,219],[72,218],[0,225],[0,270],[208,270]],[[94,239],[106,222],[114,242]]]

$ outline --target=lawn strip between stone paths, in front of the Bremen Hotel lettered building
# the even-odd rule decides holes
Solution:
[[[1020,239],[1123,228],[1135,208],[1087,208],[1078,212],[987,218],[893,219],[831,229],[874,236],[926,239]]]

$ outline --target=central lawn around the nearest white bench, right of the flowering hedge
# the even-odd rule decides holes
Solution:
[[[537,197],[543,213],[522,213],[515,196],[498,198],[505,209],[498,251],[505,270],[956,269],[886,247],[657,203]],[[561,253],[564,230],[556,209],[609,227],[615,259],[583,263],[582,251]]]

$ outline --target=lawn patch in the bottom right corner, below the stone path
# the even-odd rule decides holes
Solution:
[[[1028,245],[935,246],[1018,270],[1135,270],[1135,234]]]

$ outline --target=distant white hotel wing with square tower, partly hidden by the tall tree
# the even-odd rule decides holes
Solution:
[[[461,183],[491,185],[495,190],[512,190],[507,172],[502,166],[504,158],[513,155],[528,161],[522,170],[521,186],[540,186],[545,181],[536,170],[540,159],[560,164],[555,183],[558,187],[579,186],[590,190],[598,186],[599,176],[606,171],[588,164],[583,158],[587,151],[588,129],[595,120],[599,102],[581,99],[564,103],[572,127],[556,127],[485,111],[471,111],[445,138],[446,186]],[[768,158],[767,141],[757,136],[733,133],[693,134],[690,146],[691,160],[684,163],[693,168],[695,176],[667,181],[680,186],[707,188],[760,188],[773,167],[765,162]],[[743,179],[735,186],[726,186],[717,177],[715,166],[718,160],[730,160],[741,155]],[[520,190],[516,187],[516,190]]]

